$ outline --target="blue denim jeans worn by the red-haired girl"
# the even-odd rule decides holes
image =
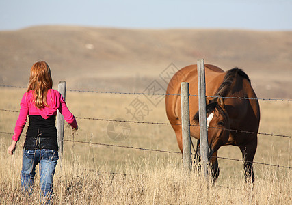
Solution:
[[[23,168],[21,169],[21,187],[29,194],[34,186],[36,165],[40,163],[40,189],[41,199],[51,200],[53,192],[53,176],[59,159],[58,152],[54,150],[23,150]]]

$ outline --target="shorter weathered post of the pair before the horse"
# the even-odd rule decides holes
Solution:
[[[181,83],[181,129],[183,137],[183,166],[191,171],[191,132],[189,131],[189,83]]]

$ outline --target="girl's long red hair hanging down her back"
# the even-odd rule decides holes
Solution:
[[[38,61],[31,66],[27,92],[34,90],[34,104],[38,109],[48,106],[47,93],[53,87],[51,70],[45,61]]]

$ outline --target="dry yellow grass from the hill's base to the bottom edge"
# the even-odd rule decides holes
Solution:
[[[1,89],[0,109],[19,109],[25,90]],[[137,96],[67,93],[70,111],[79,117],[125,118],[124,109]],[[168,122],[163,101],[146,116],[148,122]],[[13,133],[18,113],[0,111],[0,131]],[[66,127],[65,139],[109,143],[122,146],[178,151],[170,126],[131,124],[124,141],[107,136],[108,122],[78,120],[75,134]],[[291,135],[291,102],[261,101],[262,133]],[[21,137],[15,156],[6,148],[11,135],[1,134],[0,204],[38,204],[38,174],[31,197],[21,192]],[[254,161],[290,165],[289,138],[258,136]],[[219,156],[241,159],[239,148],[226,146]],[[243,165],[219,160],[220,176],[215,185],[202,181],[197,172],[181,169],[181,154],[166,154],[125,148],[64,142],[64,160],[59,161],[54,178],[54,204],[291,204],[291,169],[254,165],[254,187],[245,183]],[[37,172],[38,173],[38,172]],[[110,174],[116,173],[116,174]]]

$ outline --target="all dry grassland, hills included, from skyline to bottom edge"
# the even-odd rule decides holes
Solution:
[[[142,95],[72,91],[143,92],[156,82],[164,93],[167,83],[159,77],[163,70],[204,58],[206,64],[223,70],[242,68],[259,98],[291,99],[291,45],[291,31],[61,26],[0,31],[0,47],[5,48],[0,49],[0,85],[26,86],[31,65],[45,60],[52,70],[53,88],[66,81],[71,90],[66,102],[79,130],[73,133],[65,127],[54,204],[291,204],[292,169],[254,164],[251,187],[245,183],[242,162],[219,159],[220,176],[216,184],[209,184],[196,170],[183,171],[181,154],[158,151],[179,152],[170,125],[129,123],[129,136],[117,141],[109,137],[112,122],[97,120],[137,121],[129,109],[140,101],[148,109],[139,121],[168,123],[164,98],[150,99],[157,102],[153,105]],[[26,128],[15,156],[6,151],[18,113],[4,110],[18,111],[24,92],[0,87],[0,204],[39,204],[38,174],[33,195],[21,192]],[[292,135],[291,101],[260,100],[260,106],[261,133]],[[239,148],[233,146],[220,148],[218,156],[241,160]],[[292,167],[291,158],[291,138],[258,135],[254,161]]]

